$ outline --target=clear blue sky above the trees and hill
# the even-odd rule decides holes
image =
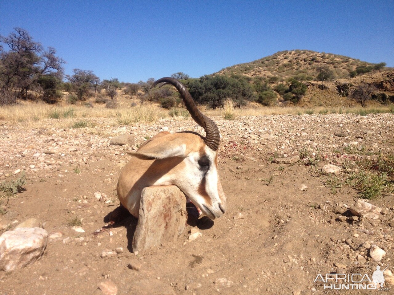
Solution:
[[[101,79],[191,77],[307,49],[394,66],[394,1],[0,0],[0,35],[14,27]]]

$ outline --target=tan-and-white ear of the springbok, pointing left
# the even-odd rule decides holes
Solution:
[[[170,141],[152,140],[135,153],[129,155],[140,159],[165,159],[170,157],[186,157],[186,144],[180,138]]]

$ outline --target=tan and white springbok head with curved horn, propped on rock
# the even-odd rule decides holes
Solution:
[[[117,194],[121,204],[136,218],[142,189],[147,186],[176,185],[210,219],[226,210],[226,197],[217,173],[217,125],[195,105],[186,87],[177,79],[164,77],[155,81],[171,84],[180,93],[191,117],[204,128],[203,137],[192,131],[160,132],[136,152],[121,171]]]

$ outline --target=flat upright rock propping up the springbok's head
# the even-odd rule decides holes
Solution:
[[[175,242],[185,229],[186,218],[186,197],[177,186],[144,188],[133,251]]]

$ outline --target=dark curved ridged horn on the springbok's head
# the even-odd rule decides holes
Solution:
[[[197,108],[197,105],[194,103],[193,98],[191,98],[190,92],[188,91],[186,86],[180,83],[180,81],[178,81],[175,78],[164,77],[156,80],[152,84],[151,89],[156,85],[158,85],[159,83],[171,84],[178,90],[180,96],[182,97],[183,102],[185,103],[186,109],[190,113],[191,118],[193,118],[193,120],[197,124],[199,124],[201,127],[204,128],[206,133],[206,136],[204,138],[205,144],[211,149],[213,149],[214,151],[216,151],[217,148],[219,147],[219,141],[220,141],[219,128],[217,128],[217,125],[215,124],[214,121],[212,121],[210,118],[205,116]]]

